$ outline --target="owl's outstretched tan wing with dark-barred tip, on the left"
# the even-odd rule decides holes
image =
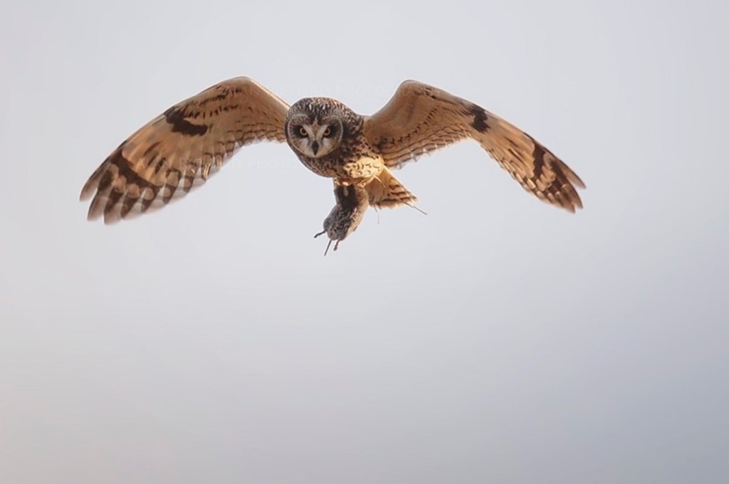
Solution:
[[[88,219],[116,222],[165,206],[215,173],[253,141],[286,141],[289,105],[248,77],[175,104],[127,138],[81,190]]]

